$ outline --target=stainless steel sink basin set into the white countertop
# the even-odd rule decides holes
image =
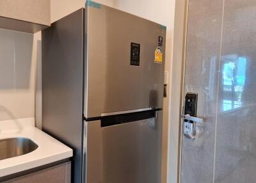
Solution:
[[[28,154],[38,148],[38,145],[28,138],[0,139],[0,160]]]

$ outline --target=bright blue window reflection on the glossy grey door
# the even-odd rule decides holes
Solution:
[[[223,100],[222,111],[242,106],[242,94],[246,79],[246,58],[237,55],[223,57]]]

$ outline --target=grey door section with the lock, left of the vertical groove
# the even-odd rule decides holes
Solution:
[[[182,138],[182,183],[212,182],[223,1],[190,0],[184,92],[198,93],[198,137]],[[203,15],[203,16],[202,16]]]

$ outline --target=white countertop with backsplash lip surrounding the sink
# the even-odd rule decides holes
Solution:
[[[0,160],[0,177],[72,157],[72,149],[36,129],[34,118],[0,122],[0,139],[29,138],[38,148],[28,154]]]

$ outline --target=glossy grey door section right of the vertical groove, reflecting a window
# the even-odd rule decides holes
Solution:
[[[214,182],[256,182],[256,1],[225,0]]]

